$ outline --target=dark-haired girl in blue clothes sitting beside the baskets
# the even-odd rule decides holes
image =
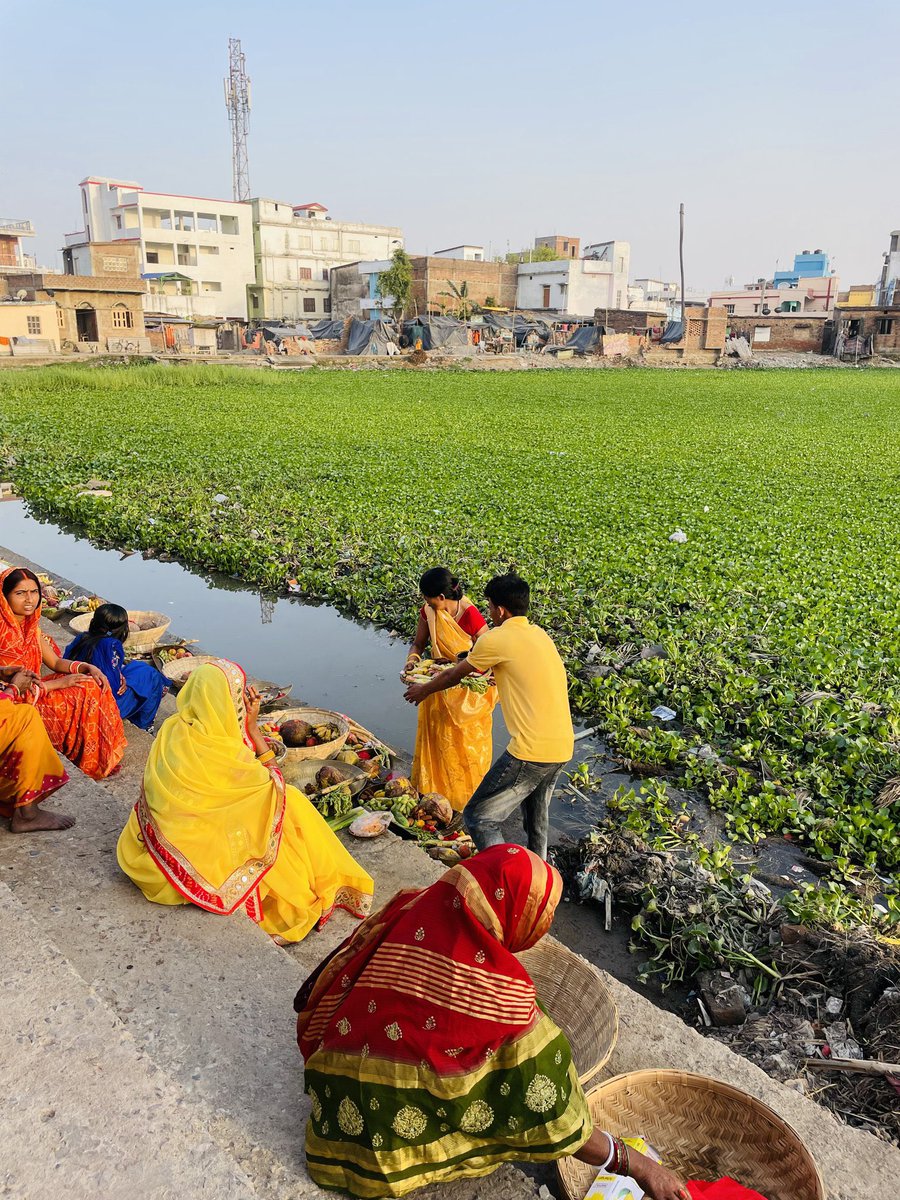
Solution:
[[[122,718],[149,730],[168,689],[166,676],[149,662],[126,662],[128,613],[118,604],[102,604],[86,634],[79,634],[62,655],[91,662],[106,676]]]

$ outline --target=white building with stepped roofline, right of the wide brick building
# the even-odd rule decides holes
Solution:
[[[517,306],[590,318],[595,308],[628,308],[629,244],[602,242],[588,246],[584,254],[550,263],[520,263]]]

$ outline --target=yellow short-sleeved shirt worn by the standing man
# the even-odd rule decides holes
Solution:
[[[475,642],[469,662],[493,670],[509,752],[524,762],[568,762],[575,749],[569,683],[551,637],[527,617],[508,617]]]

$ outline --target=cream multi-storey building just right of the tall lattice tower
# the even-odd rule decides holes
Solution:
[[[251,318],[316,320],[331,312],[336,266],[389,259],[403,245],[394,226],[332,221],[322,204],[251,200],[254,278]]]

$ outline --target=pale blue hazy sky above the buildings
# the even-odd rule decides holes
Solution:
[[[847,286],[900,228],[896,0],[0,0],[0,214],[34,221],[41,264],[86,175],[230,198],[229,37],[251,193],[414,253],[558,233],[676,278],[684,203],[689,288],[820,247]]]

